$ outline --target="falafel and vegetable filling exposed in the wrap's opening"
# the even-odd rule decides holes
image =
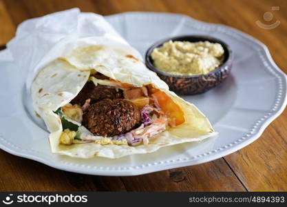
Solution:
[[[67,105],[55,111],[63,126],[60,144],[137,146],[184,123],[180,106],[151,85],[134,87],[98,73]]]

